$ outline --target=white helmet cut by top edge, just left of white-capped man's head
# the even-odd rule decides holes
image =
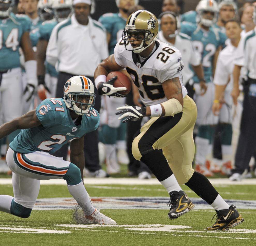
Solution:
[[[53,0],[52,9],[58,22],[66,20],[73,13],[72,0]]]

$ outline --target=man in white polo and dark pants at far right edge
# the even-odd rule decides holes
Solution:
[[[254,23],[256,24],[256,7],[254,8]],[[247,80],[244,81],[244,101],[241,118],[240,136],[236,149],[235,169],[232,170],[232,180],[240,180],[241,174],[249,166],[256,148],[256,27],[246,33],[240,40],[235,53],[234,64],[241,69],[245,67]],[[238,91],[238,78],[234,76],[234,90]],[[236,104],[237,97],[232,95]],[[236,178],[236,179],[235,179]]]

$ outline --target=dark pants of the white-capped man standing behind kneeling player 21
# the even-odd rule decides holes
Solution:
[[[58,82],[57,82],[57,90],[56,90],[56,98],[63,98],[63,88],[66,81],[75,76],[74,74],[59,72]],[[94,84],[94,78],[87,76]],[[94,84],[94,92],[96,94],[95,105],[94,108],[99,112],[101,99],[98,94],[98,90]],[[94,172],[96,170],[101,169],[99,164],[99,136],[98,131],[95,130],[93,132],[89,132],[84,137],[84,155],[85,155],[85,166],[89,171]],[[68,145],[64,145],[61,149],[59,149],[54,156],[63,157],[63,160],[66,160],[67,156],[67,148]]]

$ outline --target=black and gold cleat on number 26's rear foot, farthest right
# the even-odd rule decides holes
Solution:
[[[242,218],[240,213],[236,210],[236,206],[233,205],[231,205],[229,209],[223,209],[216,212],[216,222],[212,226],[207,227],[207,231],[227,231],[229,228],[235,227],[244,221],[244,218]]]

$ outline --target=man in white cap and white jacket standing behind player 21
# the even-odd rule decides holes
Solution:
[[[74,75],[85,75],[94,83],[94,70],[101,60],[108,57],[107,36],[104,27],[89,15],[91,0],[74,0],[74,14],[54,27],[47,46],[46,60],[59,72],[56,97],[63,98],[63,86]],[[95,86],[94,108],[100,110],[100,96]],[[90,139],[90,141],[88,141]],[[86,168],[92,176],[102,177],[98,156],[98,132],[85,137],[84,152]],[[67,147],[56,152],[58,157],[66,157]],[[102,172],[99,172],[101,170]]]

